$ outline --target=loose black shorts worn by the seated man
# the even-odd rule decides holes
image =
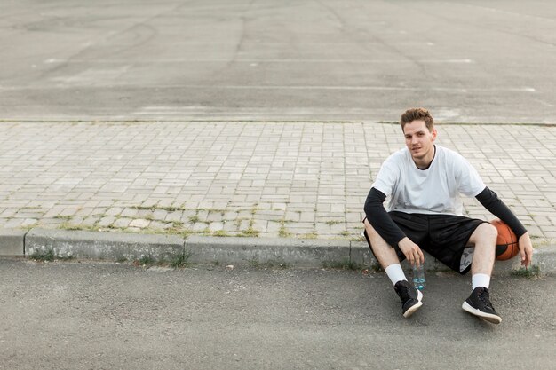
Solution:
[[[464,271],[459,270],[461,257],[469,238],[480,224],[487,222],[465,216],[408,214],[396,211],[389,212],[388,215],[409,240],[462,275],[471,269],[469,265]],[[370,247],[367,232],[365,238]],[[405,255],[400,247],[396,245],[393,248],[400,261],[403,261]]]

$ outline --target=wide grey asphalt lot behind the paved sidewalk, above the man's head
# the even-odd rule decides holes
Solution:
[[[556,4],[5,0],[2,120],[556,122]]]

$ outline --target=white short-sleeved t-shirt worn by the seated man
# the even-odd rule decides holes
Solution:
[[[481,177],[464,157],[435,147],[428,169],[417,168],[407,147],[382,164],[373,187],[389,197],[386,211],[461,216],[460,193],[474,197],[484,190]]]

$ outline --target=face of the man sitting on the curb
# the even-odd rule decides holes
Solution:
[[[403,127],[403,133],[413,161],[433,161],[436,129],[431,132],[426,128],[425,121],[418,120],[407,123]]]

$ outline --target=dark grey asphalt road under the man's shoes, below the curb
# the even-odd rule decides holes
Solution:
[[[2,369],[554,369],[556,278],[496,277],[503,322],[428,272],[410,319],[384,274],[0,259]]]

